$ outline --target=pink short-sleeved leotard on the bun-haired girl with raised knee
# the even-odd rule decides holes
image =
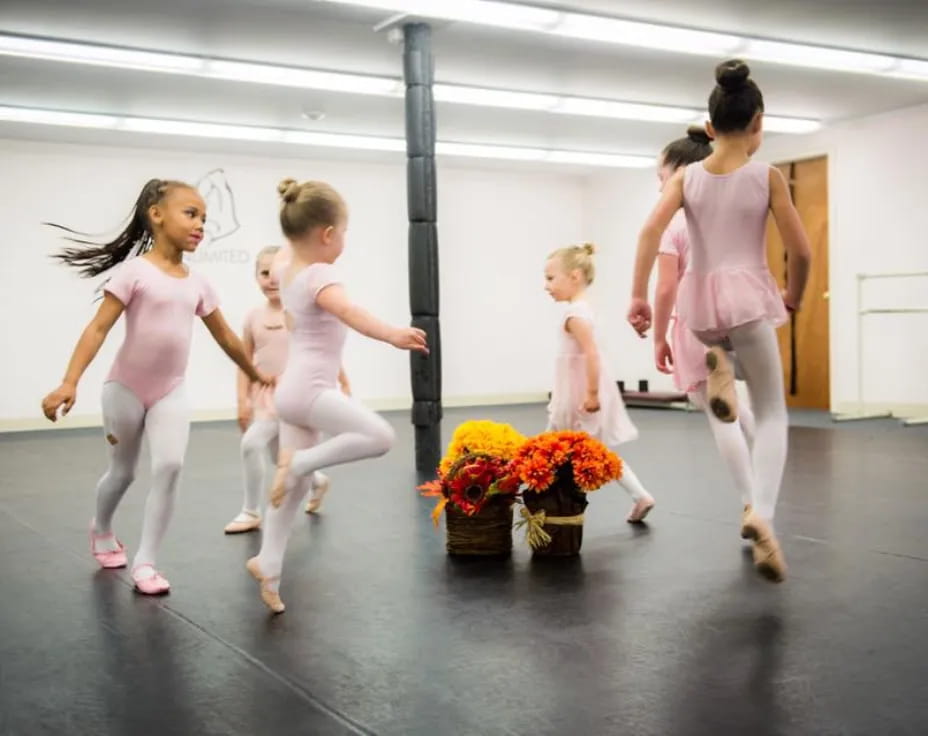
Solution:
[[[288,424],[306,426],[316,397],[338,385],[347,328],[316,304],[323,289],[338,283],[336,269],[329,263],[307,266],[286,286],[281,280],[281,301],[292,323],[290,353],[277,382],[274,404]]]

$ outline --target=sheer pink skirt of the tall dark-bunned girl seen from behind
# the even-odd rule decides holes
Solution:
[[[677,292],[677,313],[695,332],[719,333],[758,320],[779,327],[787,320],[783,297],[766,265],[687,271]]]

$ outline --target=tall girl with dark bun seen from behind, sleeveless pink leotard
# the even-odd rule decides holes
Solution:
[[[760,147],[764,101],[741,61],[716,69],[709,97],[713,153],[681,168],[667,182],[638,242],[628,320],[641,334],[651,326],[648,281],[661,235],[674,213],[686,213],[690,262],[680,283],[677,310],[705,345],[706,394],[716,417],[737,416],[733,350],[744,373],[755,414],[752,450],[754,506],[741,534],[754,544],[754,564],[780,582],[786,562],[774,534],[773,517],[786,462],[787,413],[775,328],[799,308],[808,277],[810,250],[783,175],[752,161]],[[767,268],[765,234],[772,212],[789,257],[788,283],[780,294]]]

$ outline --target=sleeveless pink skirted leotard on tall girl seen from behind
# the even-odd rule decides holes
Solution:
[[[767,268],[770,166],[750,161],[729,174],[703,162],[686,167],[683,209],[690,263],[677,312],[696,332],[725,335],[732,327],[786,321],[783,298]]]

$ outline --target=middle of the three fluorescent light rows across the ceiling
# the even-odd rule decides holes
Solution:
[[[110,66],[145,71],[166,71],[207,79],[223,79],[254,84],[279,85],[295,89],[328,90],[349,94],[402,97],[405,88],[401,79],[378,77],[346,72],[332,72],[299,67],[258,64],[226,59],[203,59],[176,54],[158,54],[135,49],[115,49],[109,46],[46,41],[0,34],[0,54],[67,61],[96,66]],[[925,62],[928,65],[928,62]],[[613,118],[646,122],[686,124],[702,122],[705,113],[694,108],[650,105],[620,100],[601,100],[587,97],[567,97],[539,92],[489,89],[457,84],[435,84],[432,89],[439,102],[480,105]],[[818,121],[784,119],[778,125],[772,116],[767,118],[771,132],[808,132],[820,127]]]

